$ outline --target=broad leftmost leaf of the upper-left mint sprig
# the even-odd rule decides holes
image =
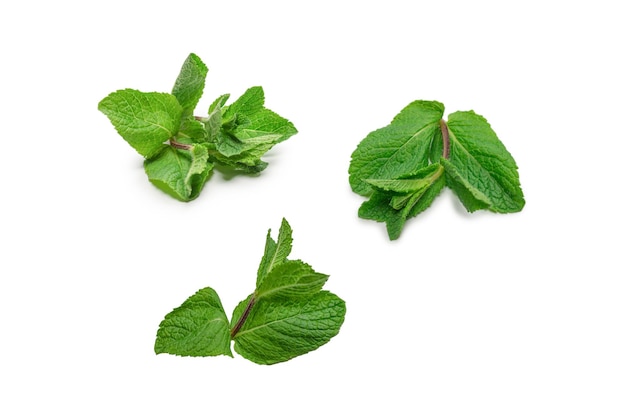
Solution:
[[[178,133],[182,108],[167,93],[118,90],[98,104],[117,132],[137,152],[151,157],[161,145]]]

